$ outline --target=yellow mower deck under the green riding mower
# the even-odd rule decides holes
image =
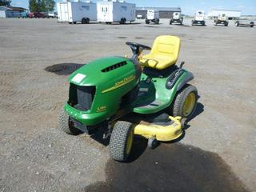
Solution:
[[[156,138],[158,141],[169,142],[182,135],[181,117],[169,116],[170,125],[158,125],[155,123],[140,123],[134,127],[134,134],[143,138]]]

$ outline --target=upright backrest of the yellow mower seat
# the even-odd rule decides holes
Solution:
[[[160,35],[154,40],[150,54],[170,56],[170,62],[177,62],[180,47],[180,38],[171,35]]]

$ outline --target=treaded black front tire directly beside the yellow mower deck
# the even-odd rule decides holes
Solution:
[[[128,146],[129,137],[134,137],[134,129],[132,123],[118,121],[112,131],[110,137],[110,157],[119,162],[126,162],[130,155],[130,148]],[[131,141],[131,144],[132,145]],[[127,149],[127,147],[130,147]]]

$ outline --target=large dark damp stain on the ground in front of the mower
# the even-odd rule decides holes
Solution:
[[[106,182],[82,191],[249,192],[218,154],[180,143],[147,149],[134,162],[110,159],[105,173]]]

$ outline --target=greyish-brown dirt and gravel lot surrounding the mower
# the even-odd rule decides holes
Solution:
[[[0,19],[0,191],[256,189],[256,27],[161,22]],[[71,71],[94,58],[130,55],[126,41],[151,46],[160,34],[182,38],[178,63],[186,61],[200,94],[184,138],[155,150],[137,141],[133,160],[121,164],[85,134],[58,130]],[[55,64],[64,71],[44,70]]]

